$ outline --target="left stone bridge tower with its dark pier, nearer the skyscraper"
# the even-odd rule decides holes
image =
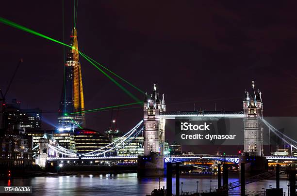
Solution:
[[[160,112],[165,111],[165,98],[160,101],[159,92],[154,84],[150,96],[145,95],[143,104],[144,120],[144,156],[138,157],[138,169],[141,175],[159,176],[164,170],[165,119]]]

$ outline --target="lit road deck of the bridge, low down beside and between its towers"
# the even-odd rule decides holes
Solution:
[[[191,161],[197,159],[209,159],[215,161],[223,161],[230,163],[239,163],[238,156],[212,156],[212,155],[193,155],[193,156],[170,156],[164,157],[165,163],[167,162],[182,162],[182,161]],[[297,161],[297,157],[278,157],[278,156],[266,156],[267,160],[281,160],[281,161]],[[137,156],[68,156],[68,157],[48,157],[48,161],[76,161],[76,160],[137,160]]]

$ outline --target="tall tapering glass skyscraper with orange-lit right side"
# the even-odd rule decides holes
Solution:
[[[67,53],[65,78],[61,96],[58,124],[60,128],[74,130],[77,124],[85,126],[84,100],[82,90],[82,70],[79,61],[77,32],[74,28],[70,35],[72,48]],[[76,113],[78,112],[78,113]],[[76,113],[76,114],[72,114]]]

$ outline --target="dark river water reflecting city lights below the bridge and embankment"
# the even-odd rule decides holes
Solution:
[[[281,176],[285,177],[285,176]],[[183,182],[182,190],[196,191],[212,189],[217,187],[216,174],[191,174],[181,175],[180,182]],[[211,182],[212,181],[212,182]],[[238,178],[231,177],[229,182],[238,181]],[[136,173],[123,174],[100,174],[100,175],[76,175],[61,177],[34,177],[27,179],[12,179],[0,181],[1,185],[31,185],[33,195],[51,196],[145,196],[150,194],[154,188],[159,188],[159,178],[137,178]],[[275,180],[263,180],[246,185],[247,190],[263,191],[271,185],[275,188]],[[166,178],[160,179],[160,187],[166,186]],[[175,193],[175,179],[172,179],[172,189]],[[280,188],[288,195],[287,180],[281,180]],[[240,190],[240,187],[235,190]],[[181,186],[180,186],[181,191]],[[20,195],[20,194],[18,194]]]

